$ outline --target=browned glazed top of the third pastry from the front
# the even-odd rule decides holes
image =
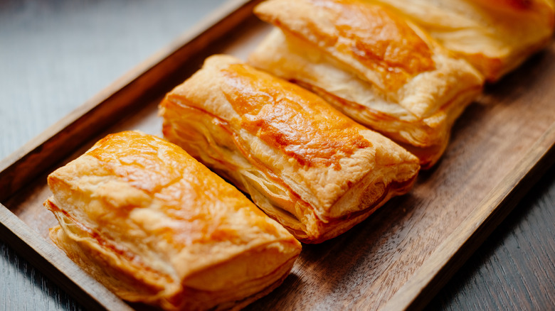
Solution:
[[[378,72],[386,81],[386,89],[398,89],[408,78],[435,69],[428,44],[404,18],[382,6],[357,0],[298,2],[268,1],[260,4],[255,13],[319,48],[351,55],[361,65]],[[291,9],[277,11],[273,6]]]

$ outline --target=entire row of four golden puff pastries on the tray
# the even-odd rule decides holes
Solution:
[[[48,176],[51,239],[122,299],[237,310],[266,295],[299,241],[408,192],[484,82],[554,30],[551,0],[268,0],[255,14],[276,27],[247,62],[213,55],[166,94],[166,140],[114,133]]]

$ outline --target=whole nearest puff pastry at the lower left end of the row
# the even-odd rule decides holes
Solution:
[[[300,243],[172,143],[98,141],[48,176],[51,239],[116,295],[164,310],[244,307],[277,287]]]

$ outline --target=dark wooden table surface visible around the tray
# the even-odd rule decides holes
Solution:
[[[223,0],[0,1],[0,158],[186,31]],[[555,108],[555,99],[554,99]],[[555,168],[430,302],[555,305]],[[0,237],[0,310],[81,310]]]

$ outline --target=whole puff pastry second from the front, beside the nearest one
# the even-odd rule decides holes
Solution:
[[[164,136],[248,192],[297,239],[342,234],[416,178],[418,158],[320,97],[227,55],[160,104]]]

